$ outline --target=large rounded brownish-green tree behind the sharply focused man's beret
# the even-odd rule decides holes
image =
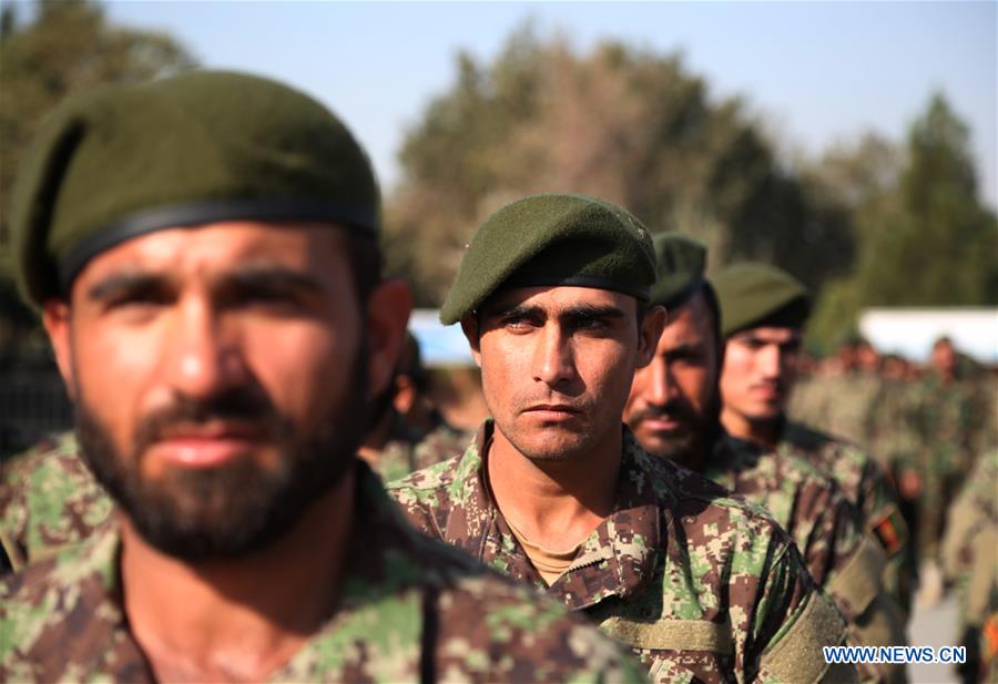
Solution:
[[[778,162],[741,101],[713,102],[679,55],[618,42],[578,54],[527,25],[492,64],[460,55],[400,161],[386,251],[424,305],[442,299],[485,216],[537,192],[601,195],[652,231],[683,228],[714,266],[760,258],[816,284],[852,255],[848,215]]]

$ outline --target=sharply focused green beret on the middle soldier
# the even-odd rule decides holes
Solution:
[[[502,287],[594,287],[648,300],[654,282],[651,236],[630,212],[588,195],[533,195],[475,234],[440,320],[457,323]]]

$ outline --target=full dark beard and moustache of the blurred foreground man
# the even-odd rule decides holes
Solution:
[[[80,448],[150,544],[185,561],[244,557],[282,538],[354,466],[368,420],[368,402],[354,400],[367,397],[367,363],[363,351],[358,356],[345,366],[354,368],[349,395],[313,435],[296,433],[262,390],[241,388],[207,400],[179,397],[141,421],[123,458],[81,395],[75,406]],[[165,427],[225,418],[262,426],[281,451],[276,466],[263,469],[252,459],[236,459],[211,470],[170,471],[155,482],[142,478],[142,453]]]

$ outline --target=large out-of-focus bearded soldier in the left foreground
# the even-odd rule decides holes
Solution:
[[[48,122],[16,268],[121,514],[0,583],[0,680],[637,674],[417,534],[355,458],[410,308],[378,213],[350,133],[264,79],[104,88]]]

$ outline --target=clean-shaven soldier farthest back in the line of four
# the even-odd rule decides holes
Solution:
[[[807,460],[831,474],[887,555],[885,586],[906,606],[908,534],[894,487],[856,446],[786,417],[802,329],[811,310],[806,288],[790,274],[754,263],[730,266],[712,282],[726,340],[721,375],[724,427],[735,437]]]

